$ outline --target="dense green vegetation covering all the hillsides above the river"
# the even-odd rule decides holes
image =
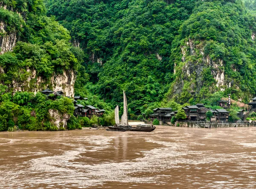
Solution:
[[[74,70],[76,95],[89,99],[79,103],[107,110],[100,119],[71,116],[70,129],[113,124],[113,107],[119,104],[122,111],[122,90],[131,119],[159,106],[178,110],[182,119],[182,106],[202,102],[218,108],[228,93],[243,102],[256,94],[255,0],[45,0],[46,8],[42,0],[0,4],[7,8],[0,8],[0,20],[7,24],[0,36],[15,32],[19,41],[12,52],[0,55],[0,83],[8,86],[1,105],[13,106],[11,118],[1,122],[4,130],[10,120],[19,124],[16,114],[38,113],[41,102],[35,99],[42,95],[23,105],[9,93],[14,81],[31,77],[27,70],[36,70],[28,91],[37,87],[39,76],[47,85],[51,76]],[[216,85],[216,73],[224,73],[223,86]],[[236,120],[236,108],[230,112]],[[49,121],[47,114],[42,117]]]

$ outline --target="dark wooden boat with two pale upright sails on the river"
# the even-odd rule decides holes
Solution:
[[[136,127],[131,127],[128,123],[128,111],[127,111],[127,99],[125,91],[124,94],[124,113],[121,118],[121,124],[119,122],[119,108],[118,105],[115,108],[115,126],[108,126],[107,131],[141,131],[141,132],[151,132],[155,130],[154,125],[137,125]]]

